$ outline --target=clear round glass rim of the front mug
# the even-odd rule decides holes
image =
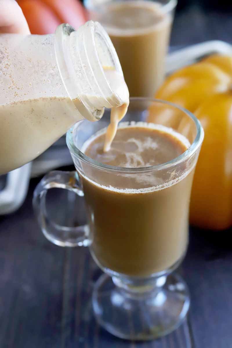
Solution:
[[[79,121],[72,128],[70,128],[66,134],[66,143],[67,143],[67,147],[69,148],[69,151],[71,152],[71,154],[74,155],[75,157],[77,157],[78,159],[80,159],[81,161],[83,161],[87,164],[90,164],[91,166],[93,166],[95,168],[98,168],[98,169],[101,169],[101,170],[104,170],[107,172],[108,171],[120,172],[120,173],[125,173],[125,174],[147,173],[147,172],[153,172],[153,171],[157,172],[157,171],[160,171],[163,169],[168,169],[170,167],[178,165],[178,164],[182,163],[183,161],[189,159],[194,154],[194,152],[197,151],[197,149],[200,147],[200,145],[203,141],[203,138],[204,138],[204,130],[201,126],[200,121],[197,119],[197,117],[195,117],[192,112],[188,111],[185,108],[182,108],[182,106],[176,105],[176,104],[168,102],[166,100],[149,98],[149,97],[131,97],[130,98],[130,102],[139,101],[139,100],[153,102],[153,103],[158,102],[158,103],[170,105],[176,109],[179,109],[180,111],[184,112],[185,114],[187,114],[193,120],[193,122],[197,128],[197,134],[195,136],[193,143],[190,145],[190,147],[188,149],[186,149],[181,155],[171,159],[170,161],[167,161],[167,162],[164,162],[161,164],[157,164],[154,166],[139,167],[139,168],[126,168],[126,167],[110,166],[108,164],[98,162],[98,161],[88,157],[87,155],[85,155],[85,153],[81,152],[81,150],[79,150],[78,147],[74,144],[74,141],[72,138],[73,128],[78,127],[79,125],[81,125],[81,123],[83,121],[85,121],[85,120],[82,120],[82,121]]]

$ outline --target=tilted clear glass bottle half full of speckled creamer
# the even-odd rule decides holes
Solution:
[[[106,70],[123,76],[103,27],[0,35],[0,174],[33,160],[77,121],[122,104]]]

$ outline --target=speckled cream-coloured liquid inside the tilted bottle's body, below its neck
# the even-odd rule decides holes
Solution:
[[[40,98],[0,106],[0,174],[31,161],[76,121],[70,98]]]

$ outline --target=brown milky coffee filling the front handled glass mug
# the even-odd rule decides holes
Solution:
[[[89,139],[82,150],[105,164],[144,167],[169,161],[189,146],[166,127],[146,125],[119,128],[107,153],[104,134]],[[101,267],[149,276],[183,256],[193,171],[183,168],[180,177],[169,182],[163,172],[119,175],[89,166],[83,171],[91,252]]]

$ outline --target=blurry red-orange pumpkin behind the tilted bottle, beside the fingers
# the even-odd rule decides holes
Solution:
[[[18,0],[32,34],[54,33],[61,23],[75,29],[87,20],[79,0]]]

